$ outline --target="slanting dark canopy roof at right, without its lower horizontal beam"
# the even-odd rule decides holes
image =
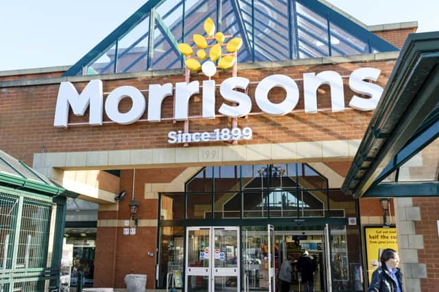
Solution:
[[[344,193],[358,198],[409,143],[439,102],[439,33],[411,34],[346,175]]]

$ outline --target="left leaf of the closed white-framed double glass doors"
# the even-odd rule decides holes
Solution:
[[[188,227],[186,232],[187,292],[211,291],[211,228]]]

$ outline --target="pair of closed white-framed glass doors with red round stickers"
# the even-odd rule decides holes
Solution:
[[[239,227],[188,227],[185,291],[238,291]]]

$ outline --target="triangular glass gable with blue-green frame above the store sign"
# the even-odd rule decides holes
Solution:
[[[182,68],[177,45],[193,45],[207,17],[242,38],[239,62],[398,51],[318,0],[150,0],[64,76]]]

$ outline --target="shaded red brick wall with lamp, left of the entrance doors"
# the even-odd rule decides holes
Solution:
[[[137,219],[158,219],[158,199],[145,199],[145,183],[171,182],[184,169],[137,169],[135,172],[134,196],[140,205]],[[119,202],[117,211],[99,211],[98,220],[130,219],[128,204],[132,199],[132,170],[122,170],[120,189],[126,196]],[[123,235],[123,227],[109,226],[97,228],[95,254],[95,287],[124,288],[124,277],[128,273],[147,274],[147,287],[154,288],[157,227],[140,226],[135,235]],[[147,255],[153,252],[154,257]],[[114,279],[114,283],[112,282]]]

